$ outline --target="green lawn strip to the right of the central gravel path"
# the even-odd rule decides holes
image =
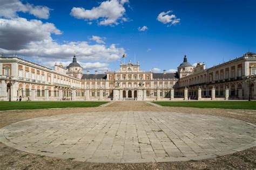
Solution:
[[[153,102],[164,107],[221,108],[256,110],[256,101],[192,101],[192,102]]]

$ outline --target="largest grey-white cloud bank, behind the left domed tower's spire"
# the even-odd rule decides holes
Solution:
[[[61,34],[52,23],[25,18],[0,18],[0,52],[4,54],[39,57],[42,60],[70,60],[76,51],[78,60],[118,60],[125,53],[115,44],[90,45],[87,41],[64,42],[52,40],[51,34]]]

